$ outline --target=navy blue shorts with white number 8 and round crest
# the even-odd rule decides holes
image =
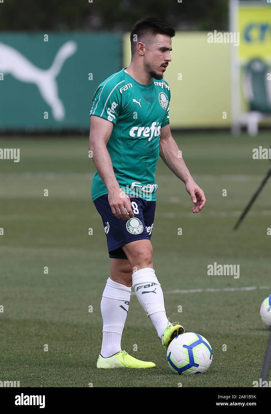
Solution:
[[[127,259],[122,246],[131,241],[151,239],[156,201],[130,197],[134,217],[130,220],[117,219],[108,202],[108,194],[94,200],[94,205],[101,215],[107,238],[110,258]]]

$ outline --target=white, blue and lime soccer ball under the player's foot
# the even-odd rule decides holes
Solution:
[[[174,338],[167,350],[170,368],[181,374],[203,374],[213,360],[211,345],[203,336],[186,332]]]

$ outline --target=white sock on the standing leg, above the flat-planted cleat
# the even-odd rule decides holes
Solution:
[[[127,318],[132,289],[114,282],[106,281],[101,300],[103,318],[103,342],[101,356],[108,358],[121,351],[121,337]]]

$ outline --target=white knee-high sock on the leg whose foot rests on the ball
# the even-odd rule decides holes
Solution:
[[[161,339],[168,318],[165,313],[165,303],[161,284],[151,267],[137,270],[132,274],[132,286],[140,305],[151,319],[158,337]]]

